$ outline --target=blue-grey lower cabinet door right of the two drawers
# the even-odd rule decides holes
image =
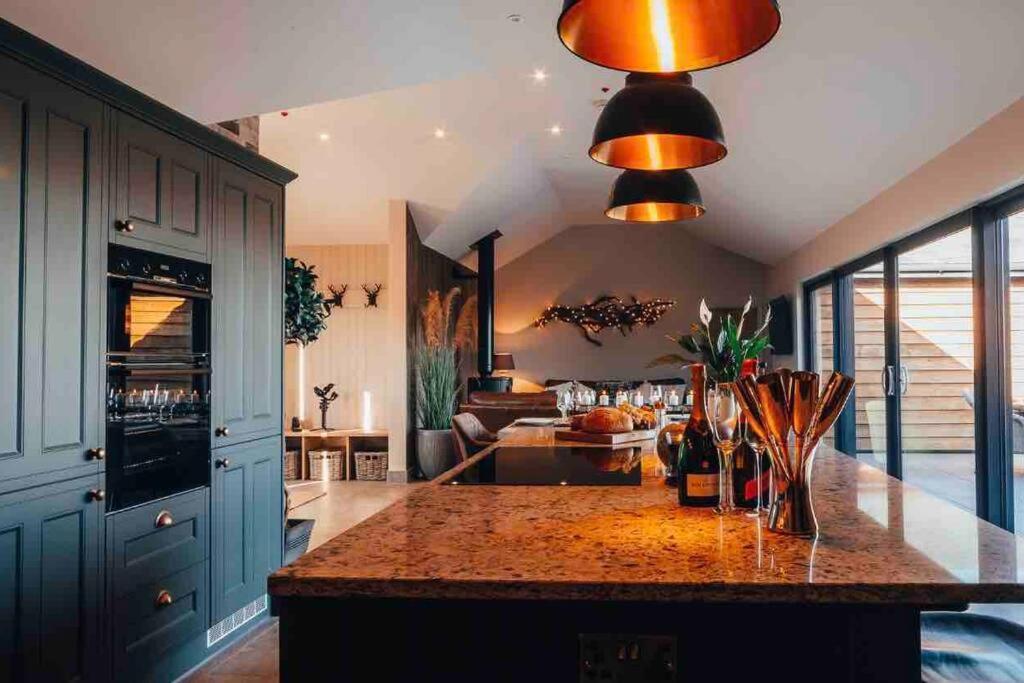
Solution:
[[[266,593],[281,566],[284,493],[280,436],[217,449],[211,538],[216,624]]]

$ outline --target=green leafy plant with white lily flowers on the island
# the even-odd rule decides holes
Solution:
[[[757,358],[770,347],[768,343],[768,323],[771,319],[771,309],[765,315],[761,327],[750,337],[743,338],[743,324],[746,314],[754,305],[753,297],[746,300],[739,321],[734,322],[731,315],[719,318],[720,328],[717,334],[712,333],[712,312],[703,299],[700,300],[700,323],[690,326],[689,334],[666,335],[668,339],[678,344],[682,353],[668,353],[658,356],[648,364],[655,366],[687,366],[691,362],[701,362],[705,366],[707,378],[711,382],[734,382],[739,379],[739,369],[743,360]]]

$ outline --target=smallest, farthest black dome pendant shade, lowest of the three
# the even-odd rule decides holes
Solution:
[[[683,170],[625,171],[608,198],[608,218],[663,223],[699,218],[705,213],[700,189]]]

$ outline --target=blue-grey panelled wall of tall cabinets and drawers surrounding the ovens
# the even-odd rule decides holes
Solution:
[[[294,177],[0,19],[0,683],[173,680],[265,616]],[[112,243],[212,269],[210,485],[117,512]]]

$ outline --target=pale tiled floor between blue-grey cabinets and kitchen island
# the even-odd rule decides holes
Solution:
[[[383,481],[332,481],[290,484],[291,519],[315,519],[310,550],[355,526],[418,484]],[[278,621],[270,622],[227,648],[185,678],[187,683],[269,683],[279,680]]]

